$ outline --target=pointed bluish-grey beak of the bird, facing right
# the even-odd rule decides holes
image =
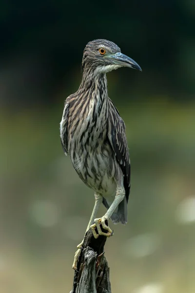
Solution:
[[[111,59],[117,65],[131,67],[142,71],[141,67],[136,63],[136,61],[120,52],[110,55],[108,58]]]

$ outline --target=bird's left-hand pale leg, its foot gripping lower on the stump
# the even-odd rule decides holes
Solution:
[[[91,218],[89,220],[89,224],[88,224],[87,229],[85,231],[85,234],[90,229],[92,223],[94,223],[94,219],[96,217],[96,214],[98,212],[98,209],[99,209],[101,202],[102,202],[102,196],[98,193],[95,193],[95,205],[94,205],[94,209],[92,211]],[[98,238],[98,237],[96,237],[96,238]],[[78,262],[78,258],[80,256],[80,252],[82,250],[83,242],[84,242],[84,238],[83,238],[82,242],[80,244],[78,244],[78,246],[77,246],[78,250],[75,252],[75,258],[74,258],[74,262],[73,262],[73,266],[72,266],[74,270],[77,270],[77,262]]]

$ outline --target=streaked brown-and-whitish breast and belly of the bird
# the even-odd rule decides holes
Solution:
[[[68,137],[73,166],[86,185],[104,194],[108,190],[112,193],[116,188],[116,166],[107,138],[106,103],[91,103],[85,112],[80,111],[77,119],[69,128]]]

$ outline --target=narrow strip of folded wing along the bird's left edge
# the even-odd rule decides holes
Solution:
[[[65,155],[68,153],[68,114],[69,104],[65,102],[62,119],[60,122],[60,138]]]

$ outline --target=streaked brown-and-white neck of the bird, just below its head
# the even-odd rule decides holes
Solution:
[[[108,98],[107,78],[104,73],[83,70],[82,81],[78,89],[80,92],[87,92],[87,96],[92,99],[99,98],[105,100]]]

